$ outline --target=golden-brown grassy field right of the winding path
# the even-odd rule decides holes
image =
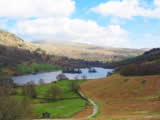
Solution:
[[[138,117],[160,114],[159,75],[141,77],[113,75],[87,81],[81,85],[81,90],[86,96],[101,104],[97,119],[139,120]]]

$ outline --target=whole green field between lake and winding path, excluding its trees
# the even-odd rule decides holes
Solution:
[[[77,81],[81,84],[84,80]],[[45,94],[48,89],[56,84],[64,93],[64,99],[58,101],[52,101],[49,103],[42,103],[45,98]],[[81,111],[88,104],[87,101],[83,100],[77,93],[73,92],[70,87],[70,80],[62,80],[52,84],[45,84],[36,86],[36,92],[38,94],[37,99],[31,99],[33,103],[34,112],[37,117],[40,117],[42,113],[51,113],[52,118],[65,118],[72,117],[72,115],[78,111]],[[21,88],[18,88],[19,95],[17,98],[23,98],[21,96]]]

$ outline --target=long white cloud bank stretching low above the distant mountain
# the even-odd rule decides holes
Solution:
[[[94,21],[67,17],[18,22],[14,32],[32,40],[65,40],[103,46],[128,47],[127,31],[119,25],[99,26]]]

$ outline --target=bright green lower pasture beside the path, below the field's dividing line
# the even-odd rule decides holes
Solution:
[[[52,113],[53,118],[65,118],[71,117],[74,113],[81,111],[86,105],[87,102],[81,98],[61,100],[47,104],[36,104],[35,111],[38,115],[49,112]]]

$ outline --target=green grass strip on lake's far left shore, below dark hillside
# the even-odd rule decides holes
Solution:
[[[16,71],[20,73],[37,73],[37,72],[53,72],[61,70],[58,66],[53,66],[51,64],[31,64],[31,65],[24,65],[19,64],[16,67]]]

